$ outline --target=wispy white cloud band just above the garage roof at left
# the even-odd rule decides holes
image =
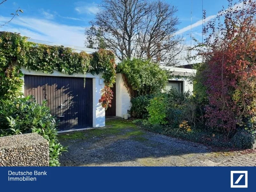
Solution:
[[[8,19],[10,18],[0,16],[0,23],[4,23]],[[17,32],[32,39],[84,47],[85,27],[63,25],[45,19],[16,17],[0,30]]]

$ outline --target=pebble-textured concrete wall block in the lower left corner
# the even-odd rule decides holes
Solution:
[[[37,133],[0,137],[0,166],[49,166],[49,143]]]

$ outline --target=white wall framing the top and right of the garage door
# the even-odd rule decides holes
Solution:
[[[40,75],[40,76],[64,76],[64,77],[84,77],[84,74],[76,73],[73,75],[63,74],[58,71],[54,71],[52,74],[46,74],[39,71],[28,71],[28,69],[21,67],[21,71],[24,75]],[[101,89],[105,86],[102,79],[102,74],[92,75],[86,74],[86,78],[92,78],[92,126],[104,127],[105,126],[105,109],[99,103],[99,99],[102,95]],[[22,77],[24,79],[24,77]],[[24,93],[24,85],[22,87]]]

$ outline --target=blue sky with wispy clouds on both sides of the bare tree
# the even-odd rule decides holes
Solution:
[[[0,0],[0,3],[2,0]],[[191,0],[166,0],[177,7],[176,16],[180,19],[177,35],[184,36],[190,42]],[[1,31],[19,32],[33,39],[84,46],[84,29],[97,12],[100,1],[70,0],[7,0],[0,5],[0,25],[10,18],[10,13],[20,7],[24,13],[15,17],[11,23],[0,28]],[[226,0],[203,0],[206,17],[213,18],[227,8]],[[193,36],[201,40],[202,36],[202,0],[192,0]],[[190,44],[190,43],[189,43]]]

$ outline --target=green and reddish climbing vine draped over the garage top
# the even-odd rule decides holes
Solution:
[[[20,94],[23,75],[20,67],[28,70],[53,73],[54,70],[64,74],[74,73],[99,74],[103,73],[104,83],[108,89],[116,80],[115,56],[112,51],[100,49],[88,54],[84,51],[77,53],[64,46],[49,46],[27,41],[27,37],[19,33],[0,32],[0,96],[13,99]],[[104,90],[106,89],[104,88]],[[102,106],[108,108],[112,98],[110,92],[104,91],[100,99]]]

